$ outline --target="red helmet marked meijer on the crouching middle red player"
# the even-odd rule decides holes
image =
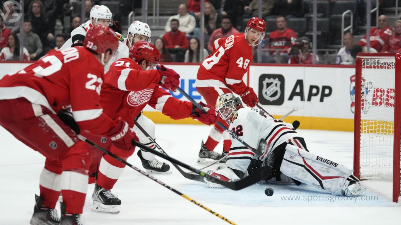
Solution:
[[[158,64],[160,61],[160,53],[159,51],[146,41],[138,41],[133,44],[130,48],[130,58],[132,58],[135,62],[140,62],[142,59],[148,62],[148,66],[150,64]],[[153,67],[153,66],[150,66]]]

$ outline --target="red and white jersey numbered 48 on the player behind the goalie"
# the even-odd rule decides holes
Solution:
[[[230,88],[242,94],[247,88],[242,79],[252,61],[252,46],[241,33],[220,38],[216,43],[219,47],[201,63],[195,86]]]

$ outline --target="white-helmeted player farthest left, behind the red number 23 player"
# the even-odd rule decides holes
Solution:
[[[82,46],[86,32],[95,24],[110,26],[113,23],[113,14],[107,6],[93,6],[89,16],[90,20],[75,28],[71,32],[71,38],[69,38],[60,49]]]

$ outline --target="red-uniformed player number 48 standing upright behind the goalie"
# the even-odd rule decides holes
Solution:
[[[234,34],[218,40],[217,49],[201,63],[195,82],[196,90],[207,104],[214,105],[221,94],[232,92],[240,95],[243,102],[250,107],[255,106],[253,102],[259,102],[253,89],[242,79],[252,61],[252,46],[261,43],[265,32],[265,21],[253,17],[247,22],[245,34]],[[220,155],[213,152],[213,149],[221,140],[222,132],[217,125],[211,129],[206,143],[203,144],[202,141],[198,163],[207,163],[207,159],[219,159]],[[230,145],[231,141],[227,136],[223,155],[228,154]]]

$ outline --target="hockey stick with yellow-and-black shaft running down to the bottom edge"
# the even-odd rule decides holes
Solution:
[[[88,143],[89,145],[92,145],[93,147],[99,149],[100,151],[106,153],[107,155],[113,157],[114,159],[117,159],[118,161],[124,163],[125,165],[127,165],[128,167],[131,167],[132,169],[138,171],[139,173],[142,173],[143,175],[145,175],[146,177],[152,179],[153,181],[156,181],[157,183],[159,183],[160,185],[163,185],[165,188],[170,189],[171,191],[173,191],[174,193],[176,193],[177,195],[180,195],[181,197],[183,197],[184,199],[194,203],[195,205],[201,207],[202,209],[205,209],[206,211],[208,211],[209,213],[212,213],[213,215],[219,217],[220,219],[226,221],[229,224],[232,225],[237,225],[236,223],[234,223],[233,221],[227,219],[226,217],[223,217],[222,215],[220,215],[219,213],[216,213],[215,211],[209,209],[208,207],[206,207],[205,205],[198,203],[197,201],[195,201],[194,199],[191,199],[190,197],[184,195],[183,193],[177,191],[176,189],[166,185],[165,183],[163,183],[162,181],[152,177],[151,175],[149,175],[148,173],[146,173],[145,171],[140,170],[138,167],[132,165],[131,163],[128,163],[127,161],[119,158],[118,156],[114,155],[113,153],[107,151],[106,149],[103,149],[102,147],[100,147],[99,145],[96,145],[95,143],[89,141],[88,139],[86,139],[85,137],[81,136],[81,135],[77,135],[79,137],[79,139],[81,139],[82,141],[85,141],[86,143]]]

